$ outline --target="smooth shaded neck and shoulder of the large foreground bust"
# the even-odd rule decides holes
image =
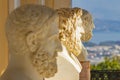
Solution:
[[[6,78],[9,80],[43,80],[37,70],[32,66],[27,54],[10,55],[9,65],[3,74],[2,80],[7,80]]]

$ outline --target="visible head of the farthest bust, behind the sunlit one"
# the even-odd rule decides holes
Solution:
[[[81,40],[83,42],[87,42],[92,37],[92,30],[94,28],[94,23],[91,14],[84,9],[82,9],[81,19],[82,19],[82,27],[84,29],[84,33],[82,33]]]

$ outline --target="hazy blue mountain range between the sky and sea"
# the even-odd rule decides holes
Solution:
[[[120,32],[120,21],[95,19],[94,24],[94,32]]]

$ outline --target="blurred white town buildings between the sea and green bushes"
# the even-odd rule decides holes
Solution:
[[[91,46],[86,47],[88,50],[88,60],[91,64],[97,64],[104,61],[104,57],[113,57],[120,55],[120,45],[112,46]]]

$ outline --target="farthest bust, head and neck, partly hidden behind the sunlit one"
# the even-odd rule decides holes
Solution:
[[[81,33],[81,41],[87,42],[93,36],[92,31],[95,28],[93,18],[92,18],[92,15],[87,10],[82,9],[81,20],[82,20],[82,27],[84,29],[84,33]],[[79,59],[79,61],[86,61],[87,54],[88,52],[86,48],[84,47],[84,45],[82,44],[82,51],[77,56],[77,58]]]

